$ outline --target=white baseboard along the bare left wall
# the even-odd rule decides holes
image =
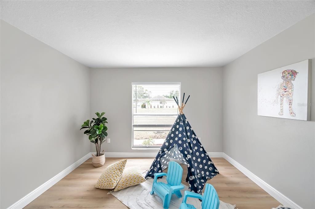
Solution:
[[[81,159],[79,159],[77,162],[74,162],[72,165],[70,165],[68,168],[64,169],[57,175],[55,175],[53,178],[46,181],[44,184],[37,187],[35,190],[31,191],[24,197],[22,197],[19,201],[15,202],[13,205],[9,206],[8,209],[20,209],[28,205],[31,201],[35,200],[39,195],[43,194],[46,190],[48,190],[50,187],[52,187],[54,184],[56,184],[58,181],[60,181],[63,177],[68,175],[71,171],[76,169],[79,165],[81,165],[83,162],[88,160],[91,157],[91,153],[86,154]]]

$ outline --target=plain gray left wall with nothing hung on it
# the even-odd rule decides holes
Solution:
[[[90,151],[89,69],[1,20],[1,208]]]

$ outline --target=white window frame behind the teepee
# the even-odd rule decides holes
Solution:
[[[131,83],[131,104],[133,104],[133,88],[132,85],[180,85],[180,91],[181,91],[181,82],[132,82]],[[179,92],[180,95],[180,92]],[[178,98],[180,101],[180,98]],[[161,115],[161,114],[159,114]],[[173,114],[168,114],[168,115],[173,115]],[[177,113],[174,115],[178,115]],[[169,130],[172,128],[173,124],[171,125],[134,125],[133,124],[133,117],[134,117],[134,110],[131,105],[131,149],[136,149],[136,150],[143,150],[143,149],[156,149],[159,150],[161,147],[160,146],[134,146],[134,128],[143,128],[143,127],[165,127],[169,128]],[[168,130],[168,131],[169,131]]]

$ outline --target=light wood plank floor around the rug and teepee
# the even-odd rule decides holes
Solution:
[[[106,158],[103,167],[95,168],[92,158],[61,179],[49,190],[37,197],[25,208],[113,208],[127,209],[109,190],[95,188],[102,171],[123,158]],[[219,199],[236,204],[238,209],[271,209],[280,205],[272,196],[233,167],[224,158],[212,158],[220,174],[208,180],[218,192]],[[141,170],[150,167],[153,158],[128,158],[126,167],[140,165]],[[183,179],[187,171],[184,169]],[[186,182],[185,182],[186,184]]]

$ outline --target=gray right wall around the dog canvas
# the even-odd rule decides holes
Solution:
[[[257,116],[257,74],[315,58],[314,18],[228,64],[223,75],[224,152],[303,208],[315,205],[315,107],[311,121]],[[312,66],[314,104],[314,59]]]

